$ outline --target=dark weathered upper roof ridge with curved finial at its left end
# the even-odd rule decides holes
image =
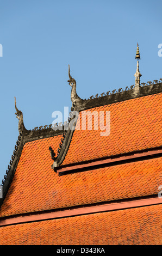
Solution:
[[[125,90],[119,88],[118,91],[116,89],[112,90],[112,92],[108,91],[106,94],[101,93],[98,96],[98,93],[94,96],[90,96],[89,99],[81,99],[76,90],[76,80],[70,75],[70,66],[68,65],[68,76],[70,80],[67,82],[72,87],[71,89],[71,101],[72,101],[72,110],[74,111],[83,111],[92,107],[99,107],[103,105],[109,105],[111,103],[124,101],[133,99],[136,97],[146,96],[149,94],[155,94],[157,92],[162,92],[162,88],[159,88],[158,85],[162,85],[162,78],[160,80],[153,80],[153,82],[148,81],[147,83],[135,83],[130,87],[126,87]],[[128,89],[128,90],[127,90]],[[116,93],[115,93],[116,92]],[[110,94],[109,94],[110,93]]]

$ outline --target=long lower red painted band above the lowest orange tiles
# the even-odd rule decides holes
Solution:
[[[45,220],[52,220],[55,218],[64,218],[64,217],[72,217],[72,216],[79,216],[85,214],[95,214],[97,212],[107,212],[107,211],[114,211],[114,210],[122,210],[122,209],[129,209],[129,208],[136,208],[141,206],[149,206],[149,205],[156,205],[162,204],[162,198],[159,197],[152,197],[152,198],[145,198],[145,199],[136,199],[126,202],[119,202],[119,203],[108,203],[102,205],[93,205],[93,206],[83,206],[82,208],[76,209],[68,209],[68,210],[61,210],[61,211],[53,211],[53,212],[46,212],[46,213],[37,213],[32,215],[20,216],[20,217],[7,217],[3,218],[0,221],[0,227],[6,225],[14,225],[14,224],[21,224],[27,222],[35,222],[35,221],[45,221]]]

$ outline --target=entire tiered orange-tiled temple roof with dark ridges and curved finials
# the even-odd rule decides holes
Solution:
[[[91,243],[89,232],[93,229],[92,225],[97,223],[97,230],[101,235],[104,221],[107,221],[107,224],[103,233],[111,231],[111,236],[103,235],[100,239],[96,234],[93,244],[128,244],[128,240],[129,244],[159,244],[160,226],[157,219],[160,216],[161,205],[157,201],[154,203],[154,199],[159,192],[162,176],[161,80],[143,83],[142,86],[138,84],[125,90],[120,88],[116,93],[114,90],[111,94],[108,92],[99,97],[91,96],[88,100],[78,97],[76,81],[71,76],[68,82],[74,85],[71,91],[71,112],[78,113],[74,130],[67,129],[67,124],[40,126],[27,130],[23,124],[22,112],[18,110],[15,100],[20,135],[3,180],[3,198],[0,199],[0,235],[4,239],[4,244],[10,244],[9,234],[14,237],[13,233],[15,234],[16,230],[19,233],[19,229],[23,230],[26,236],[24,244],[28,244],[27,241],[32,239],[28,230],[32,230],[32,234],[36,235],[39,229],[46,231],[46,228],[48,233],[51,230],[57,233],[52,237],[52,244],[78,244],[81,241],[79,239],[82,239],[83,243],[87,240]],[[91,117],[91,113],[101,117],[99,121],[102,126],[107,123],[108,113],[107,136],[101,136],[104,130],[100,126],[96,129],[95,117],[92,117],[92,129],[88,129],[86,115]],[[85,129],[80,127],[83,119]],[[68,128],[71,120],[73,119],[68,120]],[[145,203],[144,207],[130,207],[130,201],[142,202],[144,198],[153,200],[152,205]],[[120,205],[121,202],[126,202],[125,205],[130,209],[123,206],[122,210],[117,211],[98,210],[98,213],[91,212],[78,216],[73,214],[70,220],[58,218],[47,221],[45,218],[41,222],[20,222],[17,227],[11,225],[14,227],[12,231],[10,226],[5,224],[8,223],[5,220],[15,220],[21,215],[26,217],[50,211],[52,214],[63,214],[71,209],[85,209],[94,205],[98,207],[99,204]],[[111,220],[114,225],[113,231],[110,230]],[[75,227],[67,227],[69,221],[75,223]],[[116,235],[119,223],[121,233],[127,229],[127,234],[124,233],[122,240]],[[60,231],[60,225],[62,228],[65,226],[64,232],[62,229]],[[77,233],[80,225],[82,238],[73,236],[68,240],[68,232]],[[86,225],[90,227],[87,232]],[[154,237],[147,235],[148,228],[151,228]],[[138,235],[132,235],[132,229]],[[136,241],[137,237],[140,238]],[[50,236],[42,239],[42,244],[49,244],[46,239],[50,239]],[[21,237],[18,237],[18,243],[23,243]],[[38,244],[38,240],[32,244]]]

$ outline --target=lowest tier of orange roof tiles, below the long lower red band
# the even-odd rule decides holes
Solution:
[[[0,228],[1,245],[162,245],[162,205]]]

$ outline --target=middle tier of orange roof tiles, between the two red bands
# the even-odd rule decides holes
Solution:
[[[59,175],[48,148],[60,137],[24,144],[0,217],[158,194],[162,157]]]

